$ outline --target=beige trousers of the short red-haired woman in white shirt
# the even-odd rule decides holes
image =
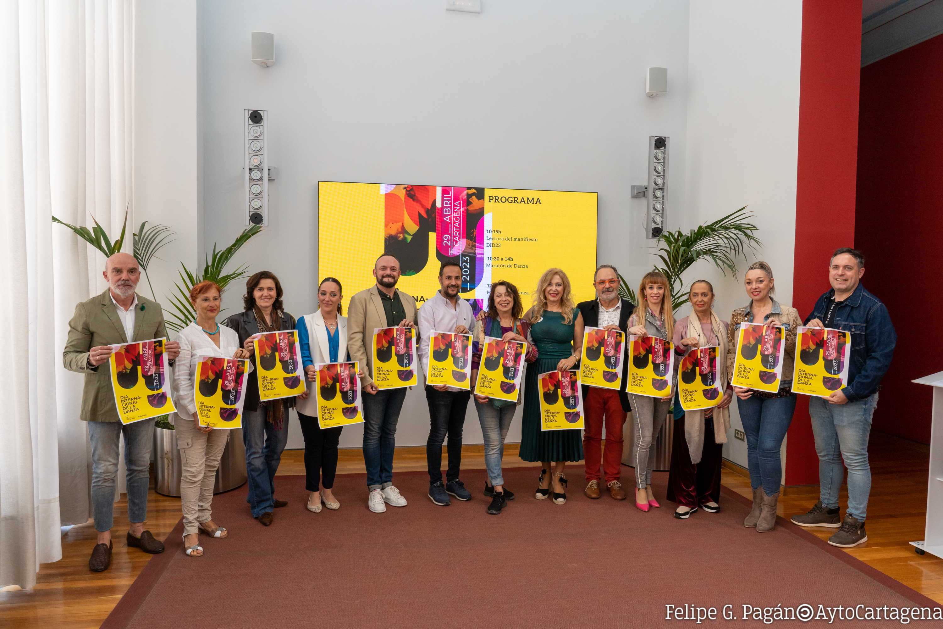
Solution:
[[[212,520],[210,504],[216,469],[229,439],[228,430],[200,432],[196,422],[179,418],[174,422],[177,449],[183,463],[180,477],[180,505],[183,508],[184,535],[197,533],[197,523]]]

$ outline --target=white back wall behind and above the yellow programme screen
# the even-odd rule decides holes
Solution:
[[[242,110],[265,108],[278,179],[270,227],[240,260],[279,276],[295,316],[315,309],[316,278],[333,274],[318,269],[319,180],[598,191],[599,261],[627,277],[648,270],[644,200],[628,188],[646,180],[653,134],[671,137],[671,181],[684,181],[687,1],[484,4],[476,15],[440,0],[206,0],[207,250],[243,228]],[[254,30],[274,33],[273,68],[250,61]],[[645,97],[649,66],[669,68],[666,96]],[[464,144],[443,154],[441,138]],[[685,192],[670,189],[674,207]],[[561,266],[572,255],[561,251]],[[398,445],[425,443],[423,397],[407,396]],[[289,447],[300,447],[292,423]],[[360,434],[347,428],[341,446]],[[471,406],[465,435],[481,443]]]

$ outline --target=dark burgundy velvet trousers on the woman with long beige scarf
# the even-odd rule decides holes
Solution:
[[[668,474],[668,499],[678,506],[694,508],[704,503],[720,504],[720,462],[723,444],[714,441],[714,420],[704,420],[704,445],[701,462],[691,463],[685,439],[687,414],[674,420],[671,443],[671,468]]]

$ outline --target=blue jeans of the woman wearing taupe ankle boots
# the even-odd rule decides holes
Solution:
[[[785,398],[761,398],[753,391],[746,400],[736,398],[740,422],[747,436],[747,467],[751,487],[763,487],[766,495],[779,491],[783,482],[783,461],[779,457],[786,430],[796,410],[796,394]]]

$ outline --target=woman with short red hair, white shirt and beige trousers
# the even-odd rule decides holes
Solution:
[[[229,438],[228,430],[200,426],[193,399],[197,356],[248,358],[240,347],[239,335],[232,328],[216,323],[220,312],[220,287],[215,282],[200,282],[190,290],[190,303],[196,309],[196,321],[180,330],[180,356],[174,365],[174,402],[177,412],[171,416],[177,449],[183,463],[180,478],[180,505],[183,509],[184,547],[187,555],[203,555],[197,534],[212,538],[228,533],[212,521],[209,505],[213,500],[216,470]],[[251,365],[250,365],[251,369]]]

